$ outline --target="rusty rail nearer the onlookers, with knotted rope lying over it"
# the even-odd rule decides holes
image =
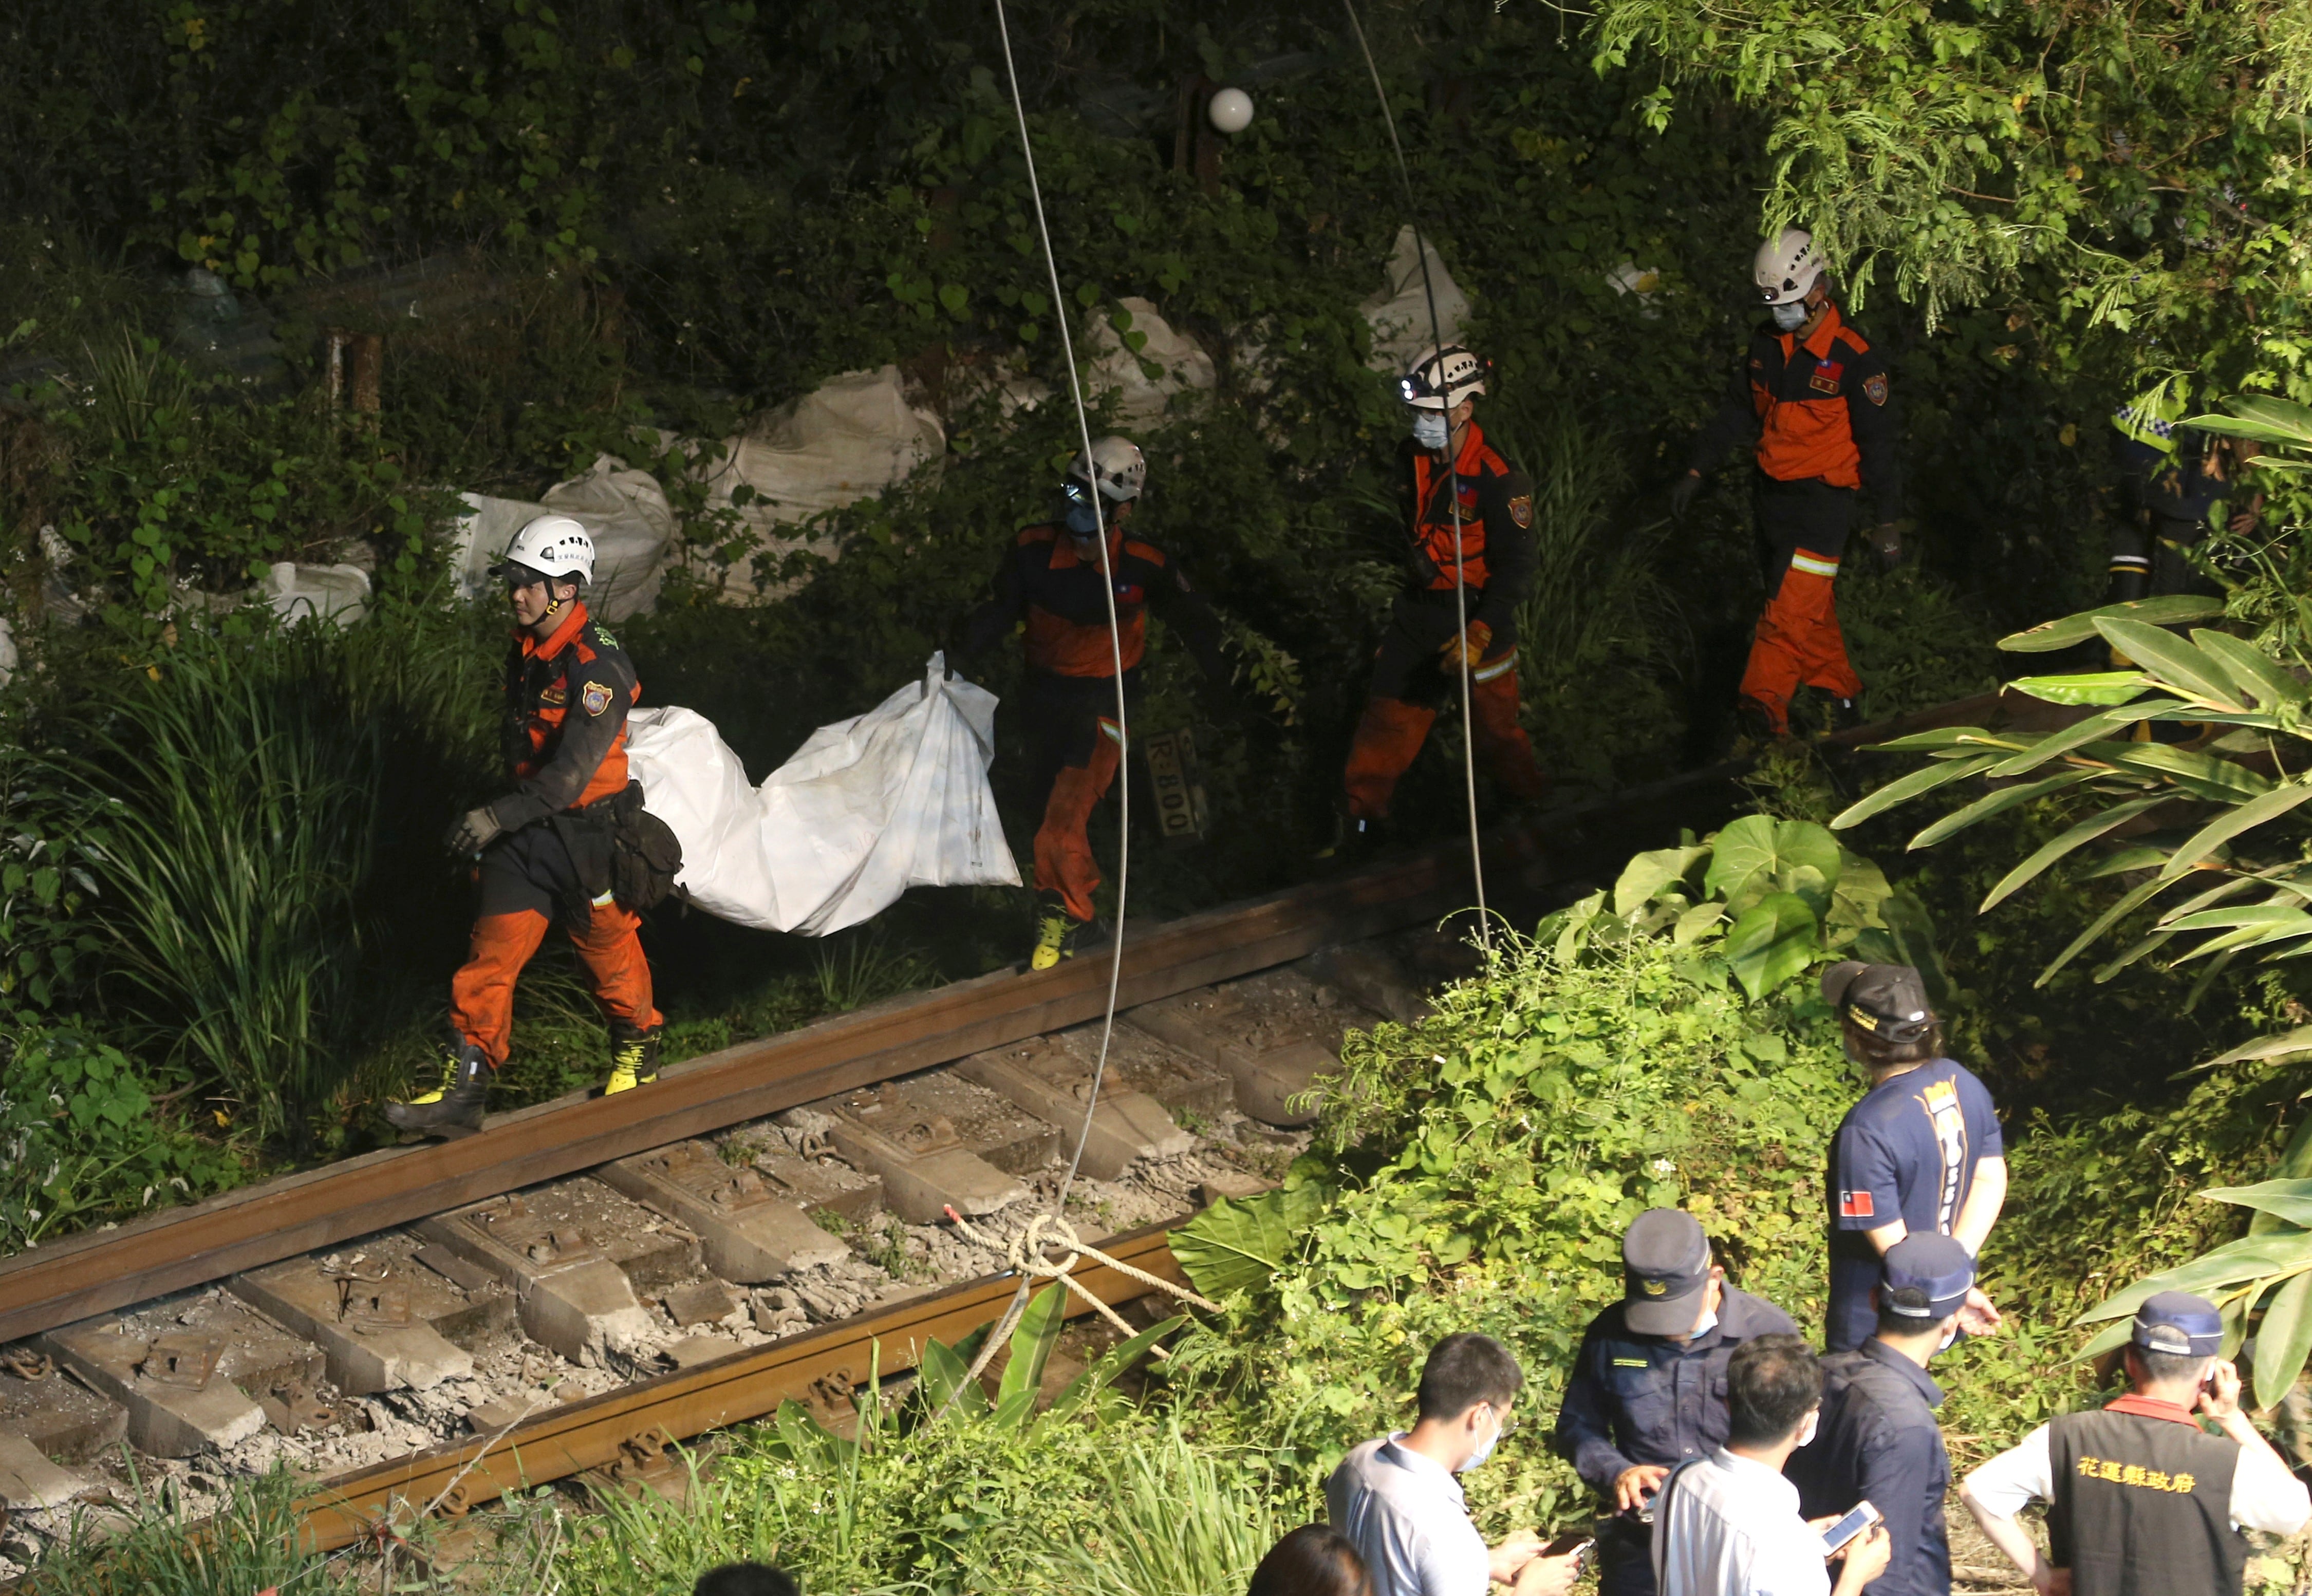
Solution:
[[[1186,1284],[1172,1261],[1168,1226],[1098,1244],[1149,1274]],[[1110,1305],[1147,1295],[1144,1284],[1103,1263],[1077,1268],[1075,1279]],[[407,1524],[435,1503],[455,1515],[513,1490],[647,1460],[673,1441],[763,1418],[786,1399],[802,1402],[821,1381],[849,1390],[867,1381],[869,1367],[879,1374],[913,1369],[927,1339],[953,1346],[996,1318],[1015,1288],[1015,1274],[987,1274],[879,1314],[585,1397],[495,1436],[342,1473],[298,1503],[305,1536],[314,1550],[335,1550],[388,1527],[395,1515]],[[1091,1311],[1073,1293],[1066,1302],[1070,1316]]]

